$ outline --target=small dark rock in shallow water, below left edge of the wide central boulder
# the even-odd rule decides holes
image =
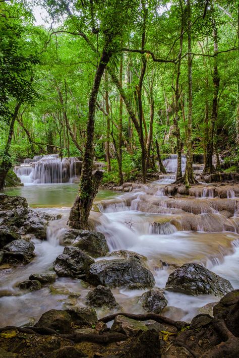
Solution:
[[[114,309],[119,307],[109,287],[97,286],[86,296],[87,304],[94,307],[107,307]]]

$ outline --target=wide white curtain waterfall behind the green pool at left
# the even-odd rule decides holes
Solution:
[[[15,166],[23,184],[72,183],[81,174],[82,162],[77,157],[59,158],[58,154],[36,155]]]

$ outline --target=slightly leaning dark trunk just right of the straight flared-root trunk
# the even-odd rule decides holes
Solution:
[[[217,26],[215,20],[212,21],[213,26],[213,42],[214,42],[214,66],[213,66],[213,99],[212,99],[212,115],[211,115],[211,123],[208,135],[208,141],[206,145],[206,161],[203,169],[203,173],[212,173],[214,171],[214,167],[212,165],[212,156],[213,156],[213,142],[214,142],[214,129],[215,123],[217,120],[217,99],[219,92],[219,84],[220,78],[218,75],[217,68],[217,53],[218,53],[218,42],[217,42]]]

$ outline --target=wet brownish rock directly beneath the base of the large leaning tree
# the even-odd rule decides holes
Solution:
[[[72,245],[93,257],[105,256],[109,251],[105,236],[97,231],[79,230]]]

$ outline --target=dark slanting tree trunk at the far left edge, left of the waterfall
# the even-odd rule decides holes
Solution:
[[[2,190],[4,188],[6,176],[8,174],[9,169],[12,167],[12,161],[11,161],[11,156],[9,155],[9,149],[10,149],[10,145],[11,145],[12,138],[13,138],[14,124],[15,124],[19,109],[21,107],[21,104],[22,104],[22,102],[17,103],[14,113],[11,118],[11,122],[10,122],[8,140],[7,140],[5,149],[4,149],[3,161],[0,166],[0,190]]]

